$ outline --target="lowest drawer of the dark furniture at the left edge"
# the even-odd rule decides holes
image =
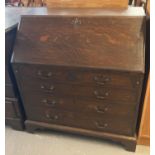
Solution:
[[[15,98],[5,98],[5,117],[17,118],[20,116],[18,100]]]

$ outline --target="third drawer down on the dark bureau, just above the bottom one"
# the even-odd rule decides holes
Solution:
[[[130,104],[108,103],[100,100],[80,99],[76,97],[55,97],[37,92],[24,94],[23,99],[25,107],[46,107],[75,113],[87,113],[87,115],[95,117],[102,117],[104,115],[133,116],[136,111],[136,106]]]

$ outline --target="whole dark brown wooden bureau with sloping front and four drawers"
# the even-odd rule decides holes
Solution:
[[[145,73],[144,16],[142,8],[132,7],[23,16],[12,67],[26,129],[111,139],[134,151]]]

